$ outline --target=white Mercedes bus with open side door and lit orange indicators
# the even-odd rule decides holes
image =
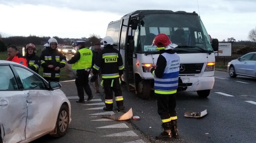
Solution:
[[[134,87],[141,99],[148,99],[154,90],[154,77],[149,71],[156,64],[159,51],[151,47],[159,33],[169,36],[178,45],[180,56],[179,91],[197,91],[207,97],[214,84],[215,54],[218,39],[209,38],[197,13],[171,10],[137,10],[120,20],[110,22],[106,36],[114,40],[123,58],[124,74],[128,90]]]

